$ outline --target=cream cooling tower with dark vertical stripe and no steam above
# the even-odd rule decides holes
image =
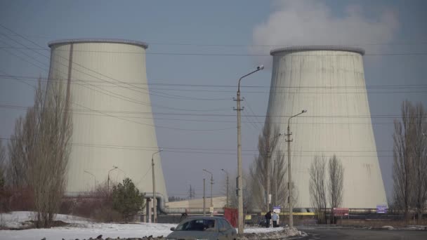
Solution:
[[[140,41],[52,41],[48,87],[66,83],[73,131],[66,194],[131,178],[152,196],[152,154],[157,138]],[[162,164],[155,154],[158,198],[167,199]],[[107,183],[108,184],[108,183]]]

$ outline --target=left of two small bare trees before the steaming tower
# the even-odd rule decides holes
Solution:
[[[326,159],[324,156],[315,156],[310,165],[310,201],[315,208],[317,220],[327,223],[327,182]]]

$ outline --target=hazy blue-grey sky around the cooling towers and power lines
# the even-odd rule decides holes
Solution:
[[[150,84],[232,85],[239,76],[263,63],[267,68],[245,79],[247,86],[270,86],[270,57],[257,58],[251,53],[268,54],[271,47],[251,45],[350,44],[367,50],[364,57],[368,86],[427,84],[426,55],[388,55],[388,53],[427,53],[426,1],[0,1],[0,23],[46,46],[55,39],[112,38],[145,41],[147,78]],[[294,14],[295,13],[295,14]],[[278,16],[277,18],[275,16]],[[282,22],[281,22],[282,21]],[[273,29],[273,30],[271,30]],[[6,34],[6,36],[4,35]],[[18,46],[19,39],[0,27],[0,46]],[[21,41],[22,39],[20,39]],[[27,46],[34,45],[22,41]],[[0,75],[47,76],[48,59],[32,51],[0,48]],[[41,51],[48,55],[48,51]],[[151,54],[150,54],[151,53]],[[224,53],[233,55],[156,55],[152,53]],[[39,67],[15,55],[30,60]],[[247,55],[244,55],[247,54]],[[44,64],[43,64],[44,63]],[[47,67],[46,67],[47,66]],[[34,81],[27,81],[34,85]],[[215,110],[215,114],[235,114],[235,88],[192,88],[178,91],[173,86],[150,88],[192,98],[223,98],[217,101],[172,100],[152,96],[152,103],[186,109]],[[159,88],[164,88],[163,90]],[[166,90],[167,89],[167,90]],[[170,90],[172,89],[172,90]],[[181,90],[183,88],[180,88]],[[247,109],[265,115],[268,88],[258,93],[244,93]],[[216,90],[197,91],[197,90]],[[218,90],[218,91],[217,91]],[[381,89],[379,90],[381,91]],[[372,114],[399,114],[400,103],[408,99],[427,106],[426,85],[402,89],[406,93],[369,93]],[[420,91],[414,93],[414,91]],[[33,89],[19,81],[0,77],[0,105],[32,105]],[[249,107],[248,107],[249,105]],[[165,112],[153,108],[153,112]],[[0,137],[8,138],[14,120],[24,111],[0,107]],[[250,113],[250,112],[249,112]],[[191,119],[188,117],[187,119]],[[212,119],[198,117],[193,119]],[[232,128],[235,117],[215,116],[213,120],[230,122],[194,122],[157,119],[156,124],[182,128]],[[248,121],[246,117],[243,121]],[[263,122],[264,119],[251,119]],[[391,123],[393,119],[383,119]],[[262,124],[244,122],[243,149],[256,149]],[[377,149],[393,148],[392,124],[374,124]],[[235,131],[178,132],[157,129],[159,146],[235,149]],[[253,156],[244,156],[247,168]],[[390,156],[380,157],[381,171],[390,194],[392,187]],[[235,171],[232,154],[196,154],[162,152],[166,187],[170,196],[184,196],[191,184],[202,194],[202,168],[213,172],[214,194],[221,194],[224,175],[221,168]],[[183,177],[185,176],[185,177]]]

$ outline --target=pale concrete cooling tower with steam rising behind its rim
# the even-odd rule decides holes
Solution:
[[[375,208],[387,204],[360,48],[293,46],[273,56],[266,121],[286,133],[291,119],[291,173],[296,208],[310,208],[310,164],[315,156],[334,154],[344,168],[343,208]],[[279,149],[287,159],[287,142]]]

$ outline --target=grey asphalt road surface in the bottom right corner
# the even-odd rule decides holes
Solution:
[[[308,236],[304,240],[426,240],[427,231],[416,230],[369,230],[369,229],[327,229],[313,227],[298,227],[298,230],[306,232]]]

